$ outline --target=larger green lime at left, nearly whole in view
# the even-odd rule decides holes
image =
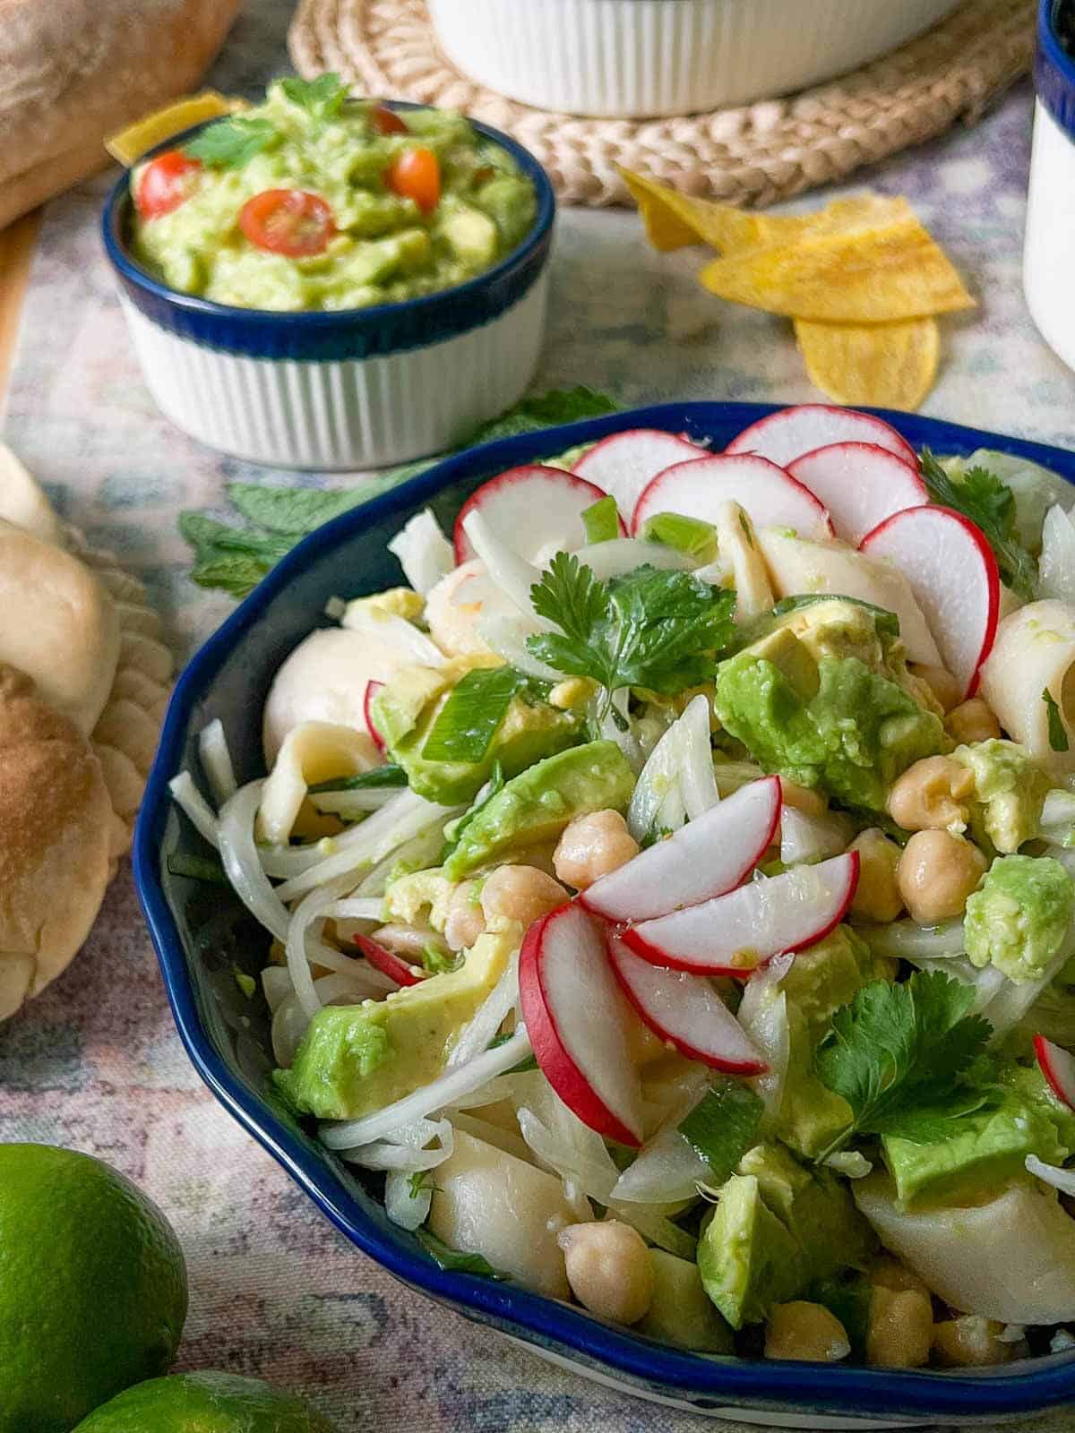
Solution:
[[[165,1373],[186,1318],[172,1225],[116,1169],[0,1145],[0,1433],[69,1433]]]

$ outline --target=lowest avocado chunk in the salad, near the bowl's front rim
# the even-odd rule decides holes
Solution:
[[[763,1144],[721,1185],[698,1242],[698,1271],[721,1314],[742,1328],[816,1281],[866,1267],[874,1242],[834,1176]]]

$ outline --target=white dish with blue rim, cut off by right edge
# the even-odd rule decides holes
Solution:
[[[1056,34],[1055,0],[1039,4],[1033,80],[1023,292],[1042,338],[1075,368],[1075,59]]]

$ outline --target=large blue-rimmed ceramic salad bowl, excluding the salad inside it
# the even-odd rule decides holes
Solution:
[[[598,1323],[579,1308],[440,1270],[413,1235],[394,1227],[367,1188],[262,1092],[271,1066],[268,1013],[244,1000],[238,963],[257,974],[267,939],[235,936],[234,903],[218,887],[168,873],[175,853],[205,854],[172,805],[168,781],[196,771],[198,732],[219,716],[236,774],[264,772],[261,708],[280,663],[324,625],[330,596],[358,596],[398,582],[386,543],[420,509],[450,523],[484,479],[631,427],[688,433],[722,449],[770,406],[688,403],[575,423],[473,449],[307,537],[251,593],[189,663],[175,689],[135,837],[135,878],[161,960],[179,1035],[208,1086],[360,1248],[413,1288],[449,1304],[579,1373],[641,1397],[765,1427],[897,1427],[942,1422],[992,1426],[1061,1403],[1075,1403],[1075,1357],[1058,1354],[979,1373],[889,1371],[682,1353]],[[917,449],[969,454],[1000,449],[1042,463],[1075,483],[1075,454],[976,428],[882,413]],[[208,894],[206,894],[208,893]],[[376,1178],[376,1176],[374,1176]]]

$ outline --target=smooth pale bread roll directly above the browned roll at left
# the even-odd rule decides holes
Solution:
[[[0,662],[26,672],[43,701],[89,734],[119,659],[119,615],[72,553],[0,522]]]

